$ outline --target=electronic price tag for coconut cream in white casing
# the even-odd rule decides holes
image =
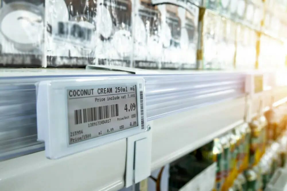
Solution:
[[[146,131],[144,79],[90,78],[38,83],[38,140],[63,157]]]

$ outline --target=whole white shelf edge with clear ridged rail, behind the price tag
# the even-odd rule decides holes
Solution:
[[[59,160],[46,159],[41,151],[44,149],[42,143],[36,141],[35,82],[56,78],[131,76],[128,72],[114,71],[105,74],[101,71],[73,72],[67,72],[67,75],[61,74],[61,70],[59,74],[54,70],[49,74],[43,72],[43,75],[27,72],[26,77],[11,72],[0,77],[0,96],[4,98],[0,100],[0,140],[6,141],[4,148],[0,141],[0,156],[3,160],[24,155],[0,162],[1,191],[119,190],[124,187],[126,139]],[[147,115],[152,131],[151,170],[177,160],[243,123],[247,98],[244,73],[176,73],[137,75],[146,80]],[[277,102],[287,100],[284,84],[266,86],[271,88],[263,88],[248,97],[256,101],[260,97],[264,103],[268,101],[263,95],[273,96],[272,100]],[[250,103],[254,108],[255,104]],[[4,149],[8,151],[3,152]],[[28,153],[32,154],[25,155]]]

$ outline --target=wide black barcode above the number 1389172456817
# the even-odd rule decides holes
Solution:
[[[119,116],[119,104],[77,109],[74,111],[75,125]]]

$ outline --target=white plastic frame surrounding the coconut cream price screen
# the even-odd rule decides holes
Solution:
[[[69,117],[68,117],[68,90],[115,86],[136,85],[137,97],[137,126],[108,132],[98,137],[87,137],[81,141],[71,144],[69,142]],[[114,94],[114,93],[113,93]],[[116,94],[116,93],[115,93]],[[141,95],[141,98],[140,98]],[[91,95],[92,97],[93,95]],[[97,95],[99,96],[99,95]],[[119,100],[123,102],[123,100]],[[106,104],[108,105],[108,104]],[[119,103],[120,105],[120,103]],[[98,106],[91,103],[91,107]],[[74,78],[41,81],[37,84],[37,131],[38,141],[45,142],[45,154],[47,158],[57,159],[87,149],[91,149],[112,141],[127,138],[146,131],[146,106],[145,106],[145,84],[142,77],[96,77],[96,78]],[[82,108],[79,108],[82,109]],[[120,112],[127,108],[119,108]],[[134,108],[133,108],[134,109]],[[83,117],[81,116],[81,119]],[[142,123],[144,125],[142,126]],[[106,125],[106,124],[104,124]],[[111,128],[115,128],[115,125]],[[98,126],[100,128],[100,126]],[[88,127],[87,127],[88,128]],[[118,128],[118,127],[116,127]],[[84,129],[85,130],[85,129]],[[90,129],[89,129],[90,130]],[[108,130],[109,131],[109,130]],[[78,135],[79,134],[79,135]],[[76,132],[75,137],[81,137],[83,132]],[[72,135],[71,135],[72,136]]]

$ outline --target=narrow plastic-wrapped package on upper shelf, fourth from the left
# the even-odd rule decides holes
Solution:
[[[150,0],[136,1],[135,10],[133,66],[159,68],[162,56],[160,11]]]

